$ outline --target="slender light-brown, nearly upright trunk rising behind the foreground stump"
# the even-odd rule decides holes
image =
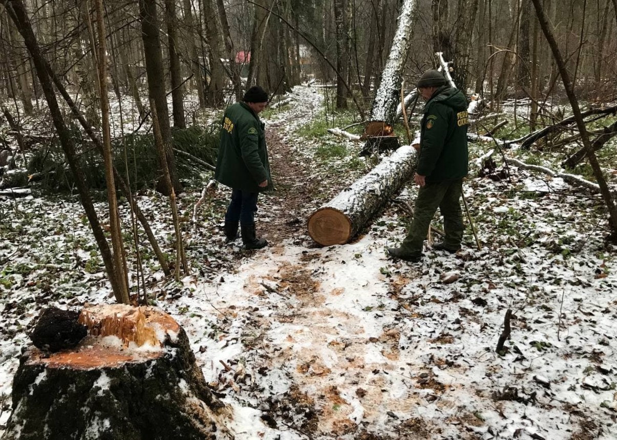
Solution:
[[[99,35],[99,81],[101,90],[101,117],[103,132],[103,160],[105,163],[105,180],[107,182],[107,203],[109,204],[109,229],[114,249],[114,267],[118,289],[122,295],[122,303],[128,304],[128,279],[126,274],[126,257],[120,226],[120,213],[114,183],[114,168],[112,159],[112,142],[109,131],[109,99],[107,98],[107,55],[105,41],[105,26],[103,23],[103,0],[96,0],[96,24]]]

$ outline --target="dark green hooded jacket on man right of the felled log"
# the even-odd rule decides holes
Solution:
[[[416,173],[426,182],[462,179],[468,173],[467,99],[458,89],[438,89],[424,105]]]

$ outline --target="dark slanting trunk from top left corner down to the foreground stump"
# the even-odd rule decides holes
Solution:
[[[32,30],[32,25],[30,23],[30,19],[28,18],[28,14],[21,0],[0,0],[0,4],[5,6],[9,12],[10,17],[15,23],[15,26],[17,26],[19,33],[22,35],[26,47],[28,48],[28,52],[30,52],[32,60],[35,63],[36,75],[38,75],[45,99],[48,102],[49,113],[51,114],[51,118],[60,139],[62,149],[64,150],[65,157],[67,158],[68,166],[70,167],[73,176],[75,176],[77,190],[80,194],[81,205],[86,211],[86,216],[88,217],[88,221],[90,222],[90,226],[94,234],[94,239],[96,240],[99,250],[101,251],[103,263],[105,264],[107,276],[109,277],[109,282],[112,286],[112,290],[114,291],[116,301],[118,301],[118,303],[122,303],[122,289],[117,282],[118,278],[115,272],[116,268],[114,267],[114,260],[109,249],[109,244],[107,243],[101,224],[99,223],[99,218],[94,210],[88,184],[86,183],[86,177],[83,174],[81,166],[77,160],[77,155],[75,154],[75,142],[73,141],[73,137],[68,131],[68,128],[64,123],[64,119],[62,118],[62,112],[60,112],[60,107],[56,99],[56,94],[54,93],[52,81],[46,68],[46,61],[44,60],[44,56],[39,49],[38,43],[36,42],[36,37]]]

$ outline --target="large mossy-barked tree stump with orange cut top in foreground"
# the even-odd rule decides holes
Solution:
[[[26,349],[3,440],[231,439],[183,328],[153,307],[89,306],[88,336],[58,352]]]

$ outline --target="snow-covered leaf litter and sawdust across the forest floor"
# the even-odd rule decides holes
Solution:
[[[306,121],[305,103],[317,99],[309,89],[295,92],[297,104],[266,121],[287,134],[287,121]],[[317,173],[313,144],[289,141],[286,160],[300,158]],[[329,174],[320,174],[321,185]],[[595,226],[602,205],[567,190],[515,192],[542,184],[524,171],[515,177],[512,186],[465,184],[486,247],[475,250],[468,230],[460,255],[427,251],[413,265],[384,254],[404,236],[394,208],[349,245],[307,248],[289,237],[250,254],[222,246],[222,192],[204,206],[204,226],[187,232],[195,274],[183,285],[154,285],[160,274],[147,282],[167,291],[157,303],[186,329],[205,377],[233,405],[238,439],[355,439],[363,431],[378,439],[615,438],[615,250]],[[190,212],[197,197],[199,189],[183,195],[182,209]],[[267,234],[267,221],[286,210],[276,197],[263,202]],[[36,307],[112,301],[100,272],[85,271],[85,256],[75,259],[74,243],[77,255],[94,249],[80,205],[59,203],[2,207],[15,231],[2,230],[0,259],[17,251],[5,266],[22,271],[0,283],[5,394]],[[155,195],[141,203],[156,233],[170,236],[167,203]],[[305,211],[318,205],[307,200]],[[458,280],[445,284],[443,274]],[[508,308],[511,340],[500,357],[494,348]]]

